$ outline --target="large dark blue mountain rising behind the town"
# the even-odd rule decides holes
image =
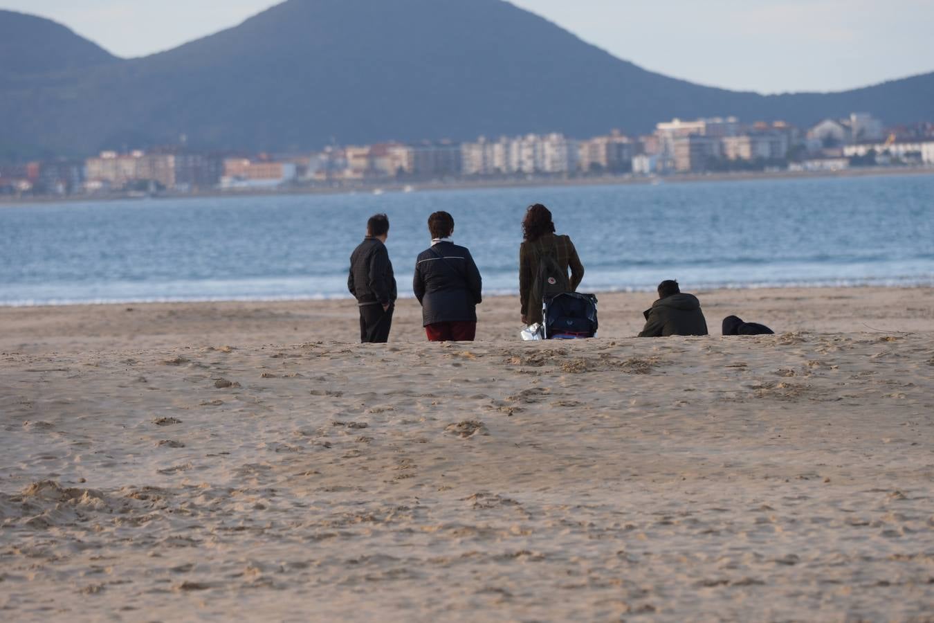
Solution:
[[[502,0],[288,0],[175,50],[0,78],[0,144],[90,153],[186,135],[199,149],[314,149],[648,132],[672,117],[808,125],[856,110],[928,119],[934,74],[763,96],[654,74]]]

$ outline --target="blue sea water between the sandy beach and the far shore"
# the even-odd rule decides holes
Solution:
[[[533,203],[572,237],[581,291],[934,285],[931,175],[4,205],[0,304],[346,297],[376,212],[410,295],[435,210],[484,290],[516,292]]]

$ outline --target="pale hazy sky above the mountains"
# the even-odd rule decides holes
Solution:
[[[0,0],[0,8],[60,21],[124,57],[173,48],[275,4],[275,0]],[[729,89],[836,91],[934,71],[930,35],[934,0],[516,0],[514,4],[647,69]]]

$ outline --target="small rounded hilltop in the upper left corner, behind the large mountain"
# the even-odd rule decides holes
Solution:
[[[0,73],[46,74],[119,61],[62,24],[0,10]]]

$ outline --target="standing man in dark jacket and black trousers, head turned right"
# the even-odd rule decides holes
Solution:
[[[362,344],[386,344],[392,326],[392,311],[396,302],[396,279],[386,239],[389,237],[389,217],[377,214],[366,223],[366,237],[350,256],[350,276],[347,290],[360,307],[360,341]]]

